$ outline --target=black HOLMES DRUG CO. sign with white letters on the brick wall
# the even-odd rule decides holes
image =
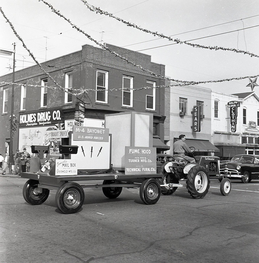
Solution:
[[[44,109],[19,114],[19,127],[51,126],[61,121],[62,108]]]

